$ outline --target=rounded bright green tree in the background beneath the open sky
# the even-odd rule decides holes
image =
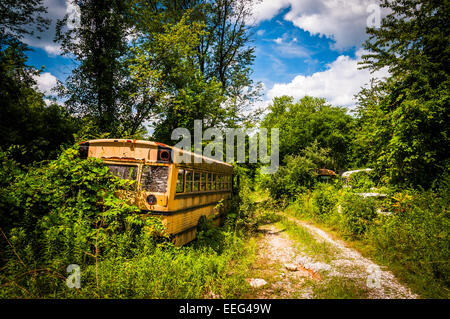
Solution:
[[[350,164],[354,119],[344,108],[328,105],[323,98],[305,96],[298,102],[289,96],[276,97],[261,127],[280,128],[280,157],[299,155],[314,141],[330,149],[329,168]]]

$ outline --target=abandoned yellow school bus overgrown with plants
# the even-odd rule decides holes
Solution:
[[[222,223],[231,205],[233,166],[228,163],[128,139],[82,142],[80,155],[100,158],[115,176],[135,180],[133,204],[144,216],[159,216],[177,246],[195,239],[201,218]]]

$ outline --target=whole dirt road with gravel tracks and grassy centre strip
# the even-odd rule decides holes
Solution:
[[[249,282],[263,280],[250,298],[419,298],[343,241],[305,221],[283,218],[259,229]]]

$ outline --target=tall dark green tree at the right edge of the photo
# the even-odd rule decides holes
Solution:
[[[378,148],[369,160],[392,183],[429,187],[450,167],[449,2],[382,6],[391,13],[379,29],[367,29],[363,67],[388,67],[391,78],[359,95],[362,133]]]

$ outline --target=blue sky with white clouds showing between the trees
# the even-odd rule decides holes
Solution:
[[[55,23],[67,10],[66,0],[45,0],[52,24],[41,39],[26,38],[32,48],[29,64],[44,71],[38,88],[50,94],[56,80],[70,74],[74,61],[60,55],[53,42]],[[335,106],[352,109],[354,95],[370,78],[388,76],[386,69],[371,74],[358,61],[364,53],[366,26],[377,25],[385,12],[376,0],[263,0],[252,7],[255,61],[252,78],[262,82],[267,106],[276,96],[324,97]]]

